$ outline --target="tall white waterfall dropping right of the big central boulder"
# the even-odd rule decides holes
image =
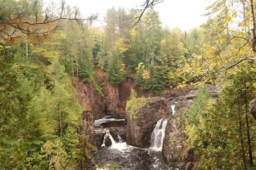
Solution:
[[[165,136],[165,127],[167,125],[167,119],[160,119],[157,121],[157,125],[151,134],[151,148],[157,151],[161,151],[163,147],[163,141]]]

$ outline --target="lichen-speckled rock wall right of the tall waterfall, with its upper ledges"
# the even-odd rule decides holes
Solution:
[[[197,155],[189,149],[185,142],[187,136],[183,131],[183,113],[193,104],[198,90],[192,90],[183,96],[170,98],[171,101],[177,101],[175,113],[169,118],[165,128],[165,138],[163,143],[163,155],[167,163],[172,167],[179,169],[192,169],[197,164]],[[217,88],[214,85],[207,86],[208,94],[213,97],[218,96]]]

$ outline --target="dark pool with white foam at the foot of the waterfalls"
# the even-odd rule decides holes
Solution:
[[[93,154],[96,165],[118,164],[116,169],[174,169],[165,163],[160,151],[126,145],[101,147]]]

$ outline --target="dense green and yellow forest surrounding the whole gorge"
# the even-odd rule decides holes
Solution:
[[[255,2],[215,0],[207,22],[185,32],[163,26],[153,3],[143,13],[111,8],[103,28],[64,1],[0,4],[1,169],[91,168],[97,148],[81,128],[74,84],[91,83],[104,97],[95,67],[113,86],[130,78],[154,96],[199,88],[182,125],[197,167],[255,168]],[[132,119],[145,100],[132,90]]]

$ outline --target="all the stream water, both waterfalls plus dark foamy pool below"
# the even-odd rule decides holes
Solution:
[[[109,119],[109,121],[107,119]],[[158,120],[151,134],[151,147],[149,148],[130,146],[120,139],[119,141],[115,141],[109,129],[105,128],[108,127],[106,126],[107,122],[112,124],[111,121],[117,122],[121,121],[121,119],[117,120],[111,117],[105,117],[95,121],[96,126],[103,123],[104,127],[102,130],[106,132],[102,146],[97,152],[93,153],[96,167],[107,164],[117,164],[118,167],[114,169],[177,169],[167,166],[161,153],[167,120]],[[105,146],[106,137],[110,138],[112,142],[111,146]]]

